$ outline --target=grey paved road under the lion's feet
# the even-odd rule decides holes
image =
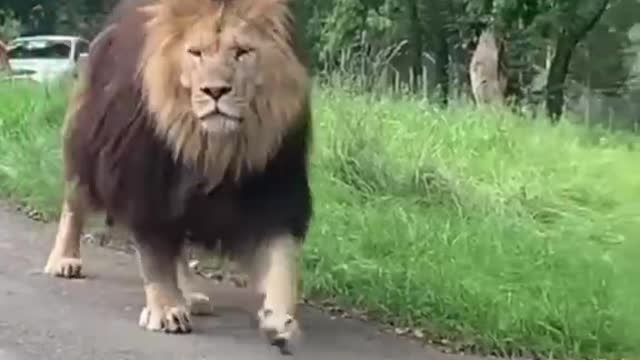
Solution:
[[[246,311],[255,304],[239,289],[212,287],[218,315],[196,317],[189,335],[141,330],[143,293],[133,257],[85,245],[87,278],[50,279],[41,268],[54,233],[55,224],[0,206],[0,360],[283,358],[258,336]],[[235,309],[226,306],[232,304]],[[305,341],[285,359],[461,360],[311,309],[302,322]]]

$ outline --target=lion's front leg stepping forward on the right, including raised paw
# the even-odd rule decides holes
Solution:
[[[258,321],[269,342],[290,353],[302,335],[296,307],[300,245],[289,235],[268,239],[256,253],[251,283],[264,296]]]

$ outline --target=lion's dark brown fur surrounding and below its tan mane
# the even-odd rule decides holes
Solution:
[[[148,245],[161,242],[153,245],[173,251],[187,232],[194,242],[234,253],[281,232],[303,239],[312,216],[309,122],[285,135],[264,171],[238,182],[225,178],[207,192],[201,175],[174,160],[147,118],[136,76],[145,19],[132,6],[148,2],[122,3],[108,22],[117,27],[92,45],[65,133],[67,180]],[[302,116],[311,116],[308,109]]]

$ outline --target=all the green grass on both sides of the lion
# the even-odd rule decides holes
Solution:
[[[0,88],[0,192],[49,216],[53,94]],[[639,353],[640,139],[335,87],[314,109],[307,295],[480,351]]]

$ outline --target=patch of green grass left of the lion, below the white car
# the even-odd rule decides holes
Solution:
[[[67,87],[0,85],[0,191],[54,216],[62,199],[59,135]]]

